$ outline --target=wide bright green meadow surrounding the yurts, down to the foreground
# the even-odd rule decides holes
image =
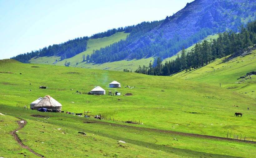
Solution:
[[[245,58],[249,56],[239,60]],[[245,64],[245,61],[239,64]],[[236,69],[225,72],[226,77],[231,75],[236,80],[244,76],[250,69],[255,68],[255,62],[251,63],[240,66],[238,64]],[[217,64],[219,65],[215,63],[212,67],[222,66],[223,63]],[[232,67],[235,68],[234,65]],[[205,81],[203,79],[196,81],[195,78],[198,78],[196,76],[195,81],[192,76],[188,79],[184,72],[180,76],[172,77],[148,76],[131,72],[23,64],[5,59],[0,60],[0,72],[2,72],[0,73],[2,87],[0,112],[6,114],[6,117],[0,115],[0,132],[4,133],[0,138],[4,142],[12,141],[10,145],[1,141],[4,147],[0,145],[0,156],[3,157],[14,157],[19,152],[26,152],[27,155],[30,153],[23,151],[25,149],[10,149],[12,146],[18,146],[8,134],[13,129],[17,129],[15,117],[23,118],[28,122],[18,132],[22,142],[46,157],[63,157],[63,155],[65,157],[74,155],[78,157],[253,157],[255,155],[255,144],[180,133],[227,137],[229,131],[232,133],[231,138],[234,133],[241,137],[246,136],[247,140],[255,137],[255,98],[239,92],[234,93],[234,89],[228,89],[227,86],[216,85],[218,78],[221,76],[224,78],[224,70],[223,73],[214,73],[215,78],[213,75],[207,82],[207,77],[204,77]],[[122,88],[108,88],[108,84],[113,80],[120,82]],[[255,85],[253,84],[255,80],[252,81],[254,82],[248,83],[249,87],[251,84]],[[124,88],[127,85],[134,88]],[[39,86],[47,86],[49,89],[39,89]],[[91,91],[94,86],[101,86],[106,90],[106,94],[108,91],[119,91],[122,95],[76,94],[76,91]],[[239,89],[242,91],[248,86],[244,85]],[[124,96],[126,93],[133,95]],[[94,115],[103,115],[107,120],[99,121],[65,113],[42,113],[16,107],[17,103],[29,105],[38,97],[45,95],[51,95],[60,102],[62,111],[82,113],[84,110],[89,110]],[[247,107],[251,109],[247,110]],[[235,112],[240,112],[243,116],[236,117]],[[32,117],[32,114],[51,118],[44,120]],[[128,120],[140,121],[143,124],[123,123]],[[56,130],[57,128],[62,130]],[[77,133],[78,131],[86,132],[87,135],[83,136]],[[174,140],[174,137],[177,140]],[[117,142],[119,140],[125,141],[126,144]]]

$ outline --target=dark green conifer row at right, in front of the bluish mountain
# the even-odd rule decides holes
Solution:
[[[239,32],[233,30],[218,34],[217,39],[203,40],[202,43],[195,44],[191,51],[186,51],[183,47],[181,56],[175,60],[162,64],[161,58],[155,59],[154,67],[151,63],[146,67],[138,67],[136,73],[155,76],[169,76],[182,70],[190,71],[192,68],[203,67],[216,58],[223,58],[240,49],[256,44],[256,21],[250,22],[247,26],[241,25]]]

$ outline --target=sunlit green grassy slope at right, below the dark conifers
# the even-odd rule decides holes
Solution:
[[[217,59],[208,65],[199,69],[193,69],[189,72],[180,72],[174,77],[182,79],[204,82],[213,86],[221,86],[234,93],[241,93],[253,99],[256,99],[256,79],[255,75],[247,79],[240,77],[246,76],[246,73],[256,71],[256,50],[244,57],[237,57],[226,61],[226,58]],[[255,105],[255,100],[251,104]]]

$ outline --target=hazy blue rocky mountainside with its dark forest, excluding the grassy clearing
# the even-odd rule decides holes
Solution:
[[[241,24],[255,20],[256,4],[253,0],[195,0],[164,20],[141,22],[133,26],[107,30],[91,37],[77,38],[62,44],[13,57],[29,63],[33,57],[59,56],[71,58],[86,50],[87,40],[111,36],[116,32],[130,33],[126,39],[110,44],[83,57],[83,62],[106,63],[148,57],[171,57],[183,47],[186,49],[208,35],[233,30]],[[219,55],[219,54],[218,54]]]

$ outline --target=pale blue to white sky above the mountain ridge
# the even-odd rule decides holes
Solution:
[[[0,59],[171,16],[193,0],[0,0]]]

